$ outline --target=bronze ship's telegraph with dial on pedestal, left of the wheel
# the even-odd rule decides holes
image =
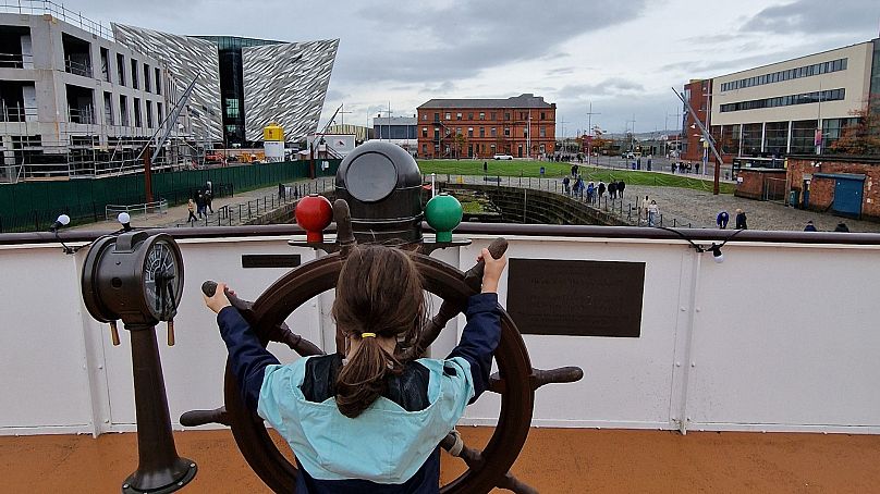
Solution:
[[[156,324],[173,318],[183,294],[183,257],[170,235],[125,232],[96,240],[83,265],[83,300],[93,318],[109,322],[119,345],[117,321],[131,333],[134,400],[137,415],[137,470],[122,483],[123,494],[166,494],[196,476],[195,461],[178,456],[171,434]]]

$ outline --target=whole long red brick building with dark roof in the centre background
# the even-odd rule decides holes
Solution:
[[[506,99],[432,99],[417,108],[418,156],[535,158],[555,148],[557,104],[524,94]]]

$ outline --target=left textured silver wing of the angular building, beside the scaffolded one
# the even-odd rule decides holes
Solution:
[[[211,140],[223,140],[223,122],[220,108],[220,62],[217,45],[204,39],[161,33],[142,27],[112,24],[118,42],[148,53],[164,63],[169,75],[183,90],[198,77],[188,106],[196,112],[196,134],[207,132]],[[200,120],[200,122],[199,122]]]

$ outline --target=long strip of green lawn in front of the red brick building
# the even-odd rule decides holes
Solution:
[[[545,168],[545,177],[563,177],[572,172],[571,163],[557,163],[547,161],[494,161],[487,160],[489,175],[493,176],[541,176],[541,166]],[[482,175],[482,161],[475,160],[418,160],[421,173],[437,173],[450,175]],[[612,178],[624,181],[628,185],[653,185],[662,187],[693,188],[696,190],[711,190],[712,181],[704,181],[682,175],[667,173],[609,170],[597,166],[580,165],[580,175],[585,181],[610,182]],[[720,184],[721,194],[733,194],[733,184]]]

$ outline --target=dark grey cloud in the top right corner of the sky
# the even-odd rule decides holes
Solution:
[[[743,25],[745,32],[829,34],[864,32],[877,34],[880,4],[876,0],[797,0],[769,7]]]

